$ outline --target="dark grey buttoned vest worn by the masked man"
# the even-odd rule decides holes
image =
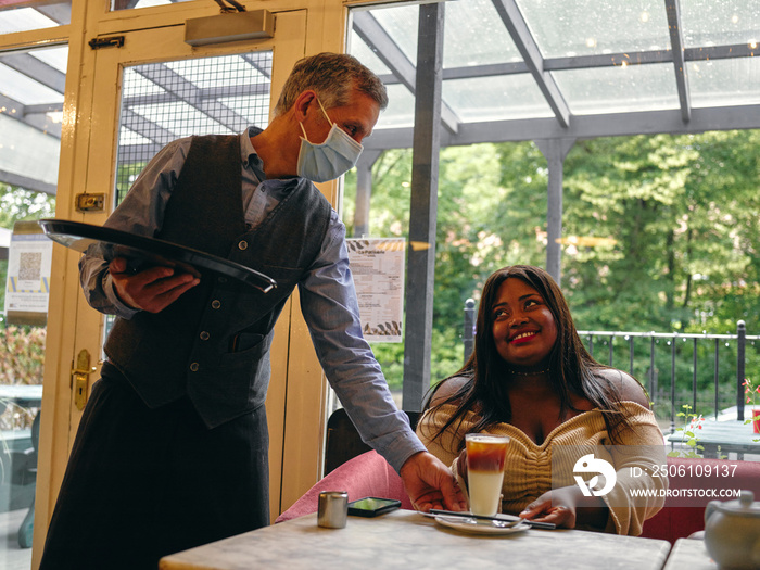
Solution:
[[[206,274],[161,313],[116,319],[105,342],[150,407],[187,394],[208,427],[264,404],[275,322],[319,254],[331,213],[312,182],[293,178],[282,202],[246,231],[240,160],[238,137],[195,137],[156,237],[252,267],[277,288],[263,294]]]

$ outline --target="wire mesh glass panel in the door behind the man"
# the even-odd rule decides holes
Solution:
[[[166,143],[266,127],[270,79],[271,51],[125,67],[116,203]]]

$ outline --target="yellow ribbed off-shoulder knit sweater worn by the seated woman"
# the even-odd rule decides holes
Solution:
[[[467,413],[461,425],[455,422],[440,438],[431,439],[455,409],[453,405],[444,405],[435,414],[428,410],[420,418],[417,434],[430,453],[452,466],[458,478],[459,444],[474,426],[476,416]],[[502,510],[517,515],[547,491],[575,485],[575,474],[588,481],[598,472],[574,472],[573,468],[578,459],[593,454],[595,458],[611,464],[617,476],[612,491],[601,497],[610,512],[605,531],[639,535],[644,521],[662,508],[664,497],[633,498],[632,491],[667,489],[667,479],[651,477],[653,470],[657,471],[654,466],[666,464],[663,438],[650,410],[634,402],[623,402],[621,409],[628,415],[632,429],[620,434],[617,445],[612,445],[598,409],[570,418],[555,428],[541,445],[509,423],[490,428],[487,433],[510,438]]]

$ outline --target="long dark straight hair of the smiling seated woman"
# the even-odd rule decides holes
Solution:
[[[436,384],[430,395],[432,398],[435,390],[451,378],[467,378],[459,390],[431,407],[433,414],[444,404],[454,404],[457,408],[433,438],[439,438],[455,423],[458,431],[465,415],[470,410],[478,410],[479,419],[468,431],[483,431],[494,423],[511,419],[507,394],[510,366],[495,349],[492,311],[499,287],[510,278],[521,279],[535,289],[554,316],[557,341],[549,353],[549,381],[559,395],[560,415],[565,416],[569,409],[574,409],[571,393],[585,397],[601,411],[607,431],[615,442],[617,434],[629,427],[629,422],[620,410],[620,390],[598,373],[601,369],[610,368],[597,363],[586,351],[559,286],[544,269],[531,265],[504,267],[485,281],[478,307],[474,350],[465,366]]]

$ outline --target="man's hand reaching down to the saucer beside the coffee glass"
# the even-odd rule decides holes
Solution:
[[[467,503],[451,470],[434,455],[419,452],[401,468],[404,489],[417,510],[466,510]]]

